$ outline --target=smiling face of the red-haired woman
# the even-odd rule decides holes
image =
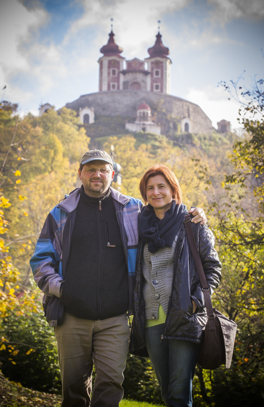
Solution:
[[[172,187],[162,175],[155,175],[147,180],[147,201],[153,208],[168,210],[172,203]]]

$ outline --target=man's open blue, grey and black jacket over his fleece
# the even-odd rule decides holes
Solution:
[[[128,266],[128,312],[132,315],[136,254],[139,244],[138,216],[143,203],[139,199],[110,189]],[[80,188],[77,188],[49,212],[37,240],[35,253],[30,260],[34,280],[44,293],[42,302],[51,326],[57,326],[62,321],[60,286],[64,282],[63,276],[68,263],[79,198]]]

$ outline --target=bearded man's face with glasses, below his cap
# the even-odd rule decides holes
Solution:
[[[101,160],[87,162],[78,172],[86,194],[96,198],[106,193],[114,177],[112,166]]]

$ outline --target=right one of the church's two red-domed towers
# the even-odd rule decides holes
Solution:
[[[169,48],[162,44],[161,37],[158,32],[154,46],[147,50],[150,57],[145,58],[145,61],[147,62],[147,70],[151,73],[147,77],[147,90],[170,94],[172,61],[167,57]]]

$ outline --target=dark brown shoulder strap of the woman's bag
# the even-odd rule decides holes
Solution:
[[[184,226],[185,226],[185,230],[186,230],[186,234],[187,234],[187,238],[189,241],[189,245],[191,247],[191,253],[193,255],[194,258],[194,263],[196,266],[196,270],[198,273],[198,277],[202,286],[202,291],[204,293],[205,296],[205,306],[206,306],[206,313],[208,317],[213,317],[214,313],[213,313],[213,304],[212,304],[212,300],[211,300],[211,295],[210,295],[210,291],[209,291],[209,287],[205,278],[205,272],[204,269],[202,267],[202,262],[200,259],[200,255],[196,246],[196,242],[194,239],[194,232],[191,228],[191,217],[189,214],[185,215],[185,219],[183,221]]]

